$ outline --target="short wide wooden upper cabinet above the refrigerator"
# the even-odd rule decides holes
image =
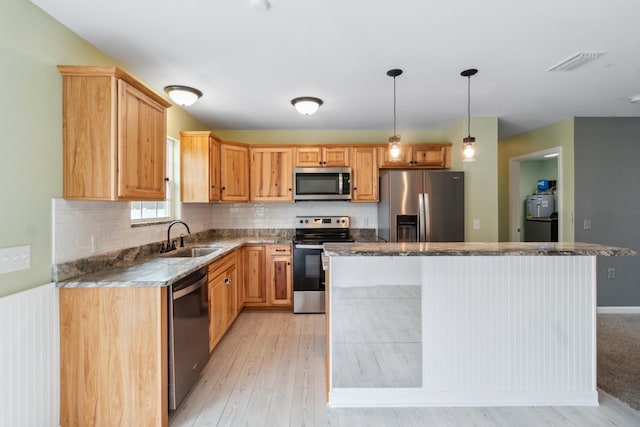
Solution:
[[[387,147],[378,148],[380,168],[448,169],[451,167],[451,144],[400,144],[400,159],[391,160]]]

